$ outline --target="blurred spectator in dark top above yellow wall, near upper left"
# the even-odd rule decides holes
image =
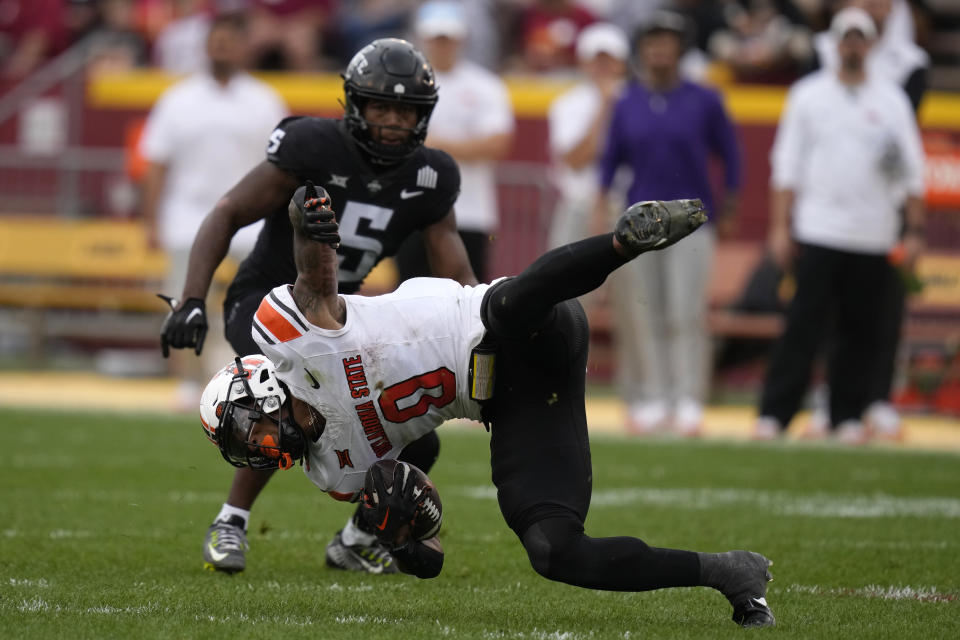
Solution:
[[[99,0],[100,23],[83,38],[90,61],[88,68],[126,71],[147,64],[147,39],[137,31],[135,0]]]

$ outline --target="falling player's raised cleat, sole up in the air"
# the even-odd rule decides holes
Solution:
[[[614,236],[627,253],[638,256],[669,247],[706,221],[702,200],[645,200],[623,212]]]

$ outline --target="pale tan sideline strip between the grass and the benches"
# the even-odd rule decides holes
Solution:
[[[53,410],[172,412],[176,381],[171,378],[117,378],[87,372],[2,372],[0,407]],[[624,411],[614,396],[587,397],[591,433],[626,435]],[[703,436],[746,440],[755,417],[750,406],[709,407]],[[796,439],[806,420],[794,420],[788,440]],[[945,416],[906,416],[904,439],[894,448],[960,452],[960,420]]]

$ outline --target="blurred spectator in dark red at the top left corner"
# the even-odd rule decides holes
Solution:
[[[0,0],[0,75],[20,79],[67,44],[67,0]]]

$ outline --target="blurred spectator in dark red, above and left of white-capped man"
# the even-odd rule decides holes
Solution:
[[[572,71],[577,36],[594,15],[573,0],[533,0],[520,16],[520,53],[527,70]]]

